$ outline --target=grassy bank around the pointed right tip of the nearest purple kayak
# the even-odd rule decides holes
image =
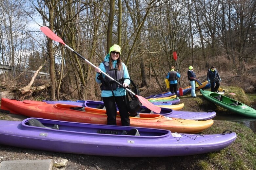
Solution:
[[[231,129],[237,134],[237,139],[227,148],[207,154],[204,161],[199,161],[197,166],[202,169],[256,169],[256,134],[239,123],[229,121],[214,121],[212,127],[204,131],[205,134],[221,133]]]

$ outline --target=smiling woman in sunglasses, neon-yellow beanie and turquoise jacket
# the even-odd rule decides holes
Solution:
[[[107,73],[110,77],[120,82],[124,87],[130,84],[130,78],[126,65],[120,58],[121,48],[114,44],[109,49],[109,54],[105,57],[104,62],[95,68],[95,80],[101,83],[101,97],[107,110],[107,124],[116,125],[116,104],[120,113],[122,126],[130,126],[130,118],[126,105],[126,90],[112,81],[100,71]]]

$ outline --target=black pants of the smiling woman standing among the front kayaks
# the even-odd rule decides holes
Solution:
[[[116,104],[120,113],[122,126],[130,126],[129,113],[126,106],[126,96],[102,97],[107,110],[108,125],[116,125]],[[116,102],[116,103],[115,103]]]

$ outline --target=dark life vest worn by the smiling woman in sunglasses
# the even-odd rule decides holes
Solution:
[[[106,73],[112,77],[113,79],[115,79],[116,81],[118,81],[120,84],[124,83],[124,69],[123,67],[121,67],[120,70],[117,69],[117,64],[115,66],[114,69],[109,69],[109,62],[105,61],[102,62],[105,69],[106,69]],[[101,84],[100,86],[100,90],[116,90],[117,87],[121,87],[120,85],[118,85],[115,81],[112,81],[110,78],[108,78],[107,76],[105,76],[105,79],[107,81],[109,81],[109,86],[105,86],[104,84]]]

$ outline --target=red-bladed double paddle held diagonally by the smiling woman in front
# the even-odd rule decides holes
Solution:
[[[62,43],[65,47],[67,47],[69,50],[71,50],[73,53],[75,53],[77,56],[79,56],[81,59],[85,60],[87,63],[89,63],[92,67],[97,68],[94,64],[92,64],[90,61],[88,61],[87,59],[85,59],[83,56],[81,56],[80,54],[78,54],[76,51],[74,51],[71,47],[69,47],[67,44],[65,44],[65,42],[58,37],[56,34],[54,34],[47,26],[43,26],[40,27],[41,31],[50,39],[60,42]],[[108,78],[110,78],[112,81],[115,81],[115,83],[117,83],[118,85],[122,86],[123,88],[125,88],[121,83],[119,83],[118,81],[116,81],[115,79],[113,79],[112,77],[108,76],[108,74],[104,73],[103,71],[101,71],[102,74],[104,74],[105,76],[107,76]],[[128,92],[130,92],[132,95],[136,96],[139,101],[145,106],[147,107],[149,110],[152,110],[156,113],[160,113],[161,108],[155,106],[154,104],[150,103],[147,99],[145,99],[142,96],[139,96],[135,93],[133,93],[132,91],[130,91],[129,89],[125,88]]]

